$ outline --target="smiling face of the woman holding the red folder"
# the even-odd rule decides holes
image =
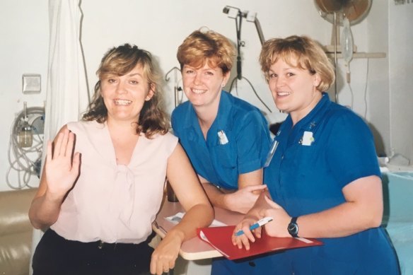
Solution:
[[[293,65],[296,62],[289,62]],[[268,83],[274,103],[279,110],[288,112],[296,124],[313,110],[322,93],[317,89],[320,84],[318,74],[310,74],[307,69],[287,64],[284,59],[277,59],[269,67]]]

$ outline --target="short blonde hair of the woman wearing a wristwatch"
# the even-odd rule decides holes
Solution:
[[[290,66],[306,69],[310,74],[320,76],[318,90],[325,91],[335,81],[334,67],[322,47],[307,36],[292,35],[286,38],[273,38],[262,45],[260,54],[261,70],[269,80],[269,67],[282,59]],[[296,63],[295,63],[296,62]]]

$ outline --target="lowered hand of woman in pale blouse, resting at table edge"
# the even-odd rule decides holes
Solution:
[[[170,231],[159,243],[151,257],[151,274],[161,275],[175,267],[175,260],[182,245],[181,238]]]

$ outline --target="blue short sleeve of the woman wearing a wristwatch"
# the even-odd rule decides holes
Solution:
[[[346,112],[337,119],[327,143],[327,165],[344,187],[370,175],[380,176],[373,135],[358,115]]]

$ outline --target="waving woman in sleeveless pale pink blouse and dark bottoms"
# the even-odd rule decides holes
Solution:
[[[80,122],[47,146],[30,221],[46,230],[33,257],[38,274],[162,274],[184,240],[214,213],[178,139],[168,132],[151,54],[110,49]],[[153,251],[147,238],[168,177],[186,214]]]

